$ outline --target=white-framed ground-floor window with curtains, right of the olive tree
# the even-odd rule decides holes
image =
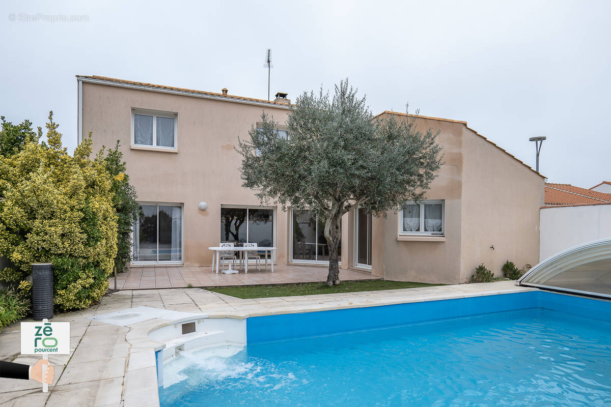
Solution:
[[[445,201],[406,202],[399,213],[403,236],[445,236]]]

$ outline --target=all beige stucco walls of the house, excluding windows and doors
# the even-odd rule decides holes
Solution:
[[[132,149],[131,110],[176,112],[178,153]],[[211,264],[218,245],[221,205],[257,206],[241,187],[238,137],[248,137],[264,107],[99,84],[82,84],[82,131],[93,132],[94,150],[120,140],[139,201],[184,205],[185,265]],[[279,123],[287,109],[265,107]],[[404,117],[400,120],[404,120]],[[480,262],[495,272],[506,259],[521,266],[538,258],[543,178],[462,122],[419,118],[419,129],[440,129],[445,164],[426,194],[445,200],[445,241],[399,241],[397,214],[372,222],[373,275],[427,283],[460,283]],[[207,201],[207,211],[197,204]],[[288,212],[276,209],[279,264],[290,257]],[[342,267],[354,264],[354,218],[343,217]],[[467,226],[466,226],[467,225]],[[489,249],[494,245],[496,250]]]

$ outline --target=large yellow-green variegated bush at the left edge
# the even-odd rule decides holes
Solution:
[[[112,179],[91,137],[73,156],[49,114],[47,143],[26,142],[0,158],[0,279],[17,283],[33,262],[51,262],[57,309],[87,308],[108,289],[117,254]],[[4,130],[3,130],[4,131]]]

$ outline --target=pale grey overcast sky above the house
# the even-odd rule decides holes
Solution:
[[[610,15],[611,1],[3,1],[0,114],[44,126],[53,110],[72,151],[76,74],[265,99],[271,48],[272,95],[349,77],[374,113],[465,120],[532,167],[528,139],[546,135],[541,173],[589,188],[611,181]]]

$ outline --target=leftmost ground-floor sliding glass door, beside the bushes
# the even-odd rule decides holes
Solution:
[[[177,204],[141,204],[134,225],[134,262],[183,261],[183,208]]]

